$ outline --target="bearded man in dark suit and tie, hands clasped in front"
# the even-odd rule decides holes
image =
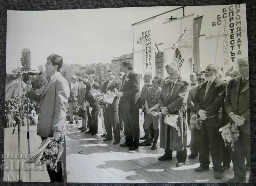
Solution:
[[[196,172],[209,170],[209,145],[212,155],[214,178],[220,179],[224,171],[222,163],[222,138],[219,128],[219,110],[226,96],[226,82],[218,78],[218,67],[209,64],[205,70],[205,82],[198,85],[194,105],[203,120],[200,130],[199,161]]]

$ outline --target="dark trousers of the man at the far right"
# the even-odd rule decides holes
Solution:
[[[251,135],[240,131],[240,136],[234,144],[234,150],[230,149],[230,157],[233,162],[234,178],[237,180],[245,180],[245,157],[246,161],[251,162]],[[251,172],[250,172],[251,174]]]

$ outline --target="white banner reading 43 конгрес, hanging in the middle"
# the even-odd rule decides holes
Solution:
[[[164,61],[180,68],[183,79],[189,81],[193,71],[194,14],[167,21],[164,25]],[[164,71],[164,77],[168,74]]]

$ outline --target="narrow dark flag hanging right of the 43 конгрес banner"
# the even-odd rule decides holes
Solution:
[[[201,31],[203,16],[197,17],[194,19],[194,30],[193,30],[193,56],[195,71],[200,72],[200,58],[199,58],[199,35]]]

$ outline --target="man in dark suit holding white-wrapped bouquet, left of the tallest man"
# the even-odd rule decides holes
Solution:
[[[107,72],[108,81],[103,84],[102,92],[105,94],[108,90],[114,91],[116,88],[117,91],[121,90],[121,84],[115,80],[115,71],[108,71]],[[118,118],[118,97],[114,98],[112,104],[108,104],[107,107],[104,108],[105,112],[103,112],[104,124],[107,131],[107,137],[103,139],[103,141],[110,141],[113,139],[112,136],[112,128],[114,133],[114,145],[120,143],[120,125],[119,125],[119,118]]]

